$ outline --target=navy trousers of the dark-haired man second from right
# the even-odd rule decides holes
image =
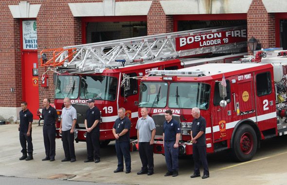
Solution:
[[[175,140],[164,141],[164,156],[168,171],[179,170],[179,148],[174,148]]]

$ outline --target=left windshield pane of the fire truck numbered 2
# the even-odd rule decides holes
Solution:
[[[167,87],[165,82],[142,82],[139,107],[164,108],[167,99]]]

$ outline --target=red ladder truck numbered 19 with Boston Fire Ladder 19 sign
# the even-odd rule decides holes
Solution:
[[[216,40],[213,41],[213,40]],[[192,44],[198,46],[191,46]],[[202,46],[204,45],[204,46]],[[207,62],[230,62],[245,53],[214,59],[178,59],[203,53],[232,53],[246,49],[246,28],[216,28],[181,31],[116,41],[68,46],[41,51],[41,66],[47,71],[42,86],[47,86],[47,72],[57,73],[54,105],[60,121],[63,99],[69,97],[77,110],[75,140],[85,141],[87,100],[95,99],[101,111],[102,146],[114,139],[112,125],[118,108],[126,108],[131,120],[130,136],[136,137],[139,84],[137,80],[151,70],[174,70]],[[181,49],[181,47],[183,47]],[[48,60],[50,57],[50,60]],[[60,122],[59,122],[60,123]],[[57,137],[59,123],[56,124]]]

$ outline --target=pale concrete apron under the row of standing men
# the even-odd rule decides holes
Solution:
[[[42,161],[41,159],[45,157],[42,126],[38,126],[37,124],[33,124],[32,131],[34,160],[20,161],[18,159],[21,156],[18,125],[0,125],[0,133],[0,175],[4,176],[140,185],[190,185],[199,183],[201,185],[238,185],[239,183],[270,185],[274,182],[280,184],[283,182],[281,181],[281,177],[287,176],[287,170],[282,171],[277,168],[278,166],[273,166],[274,164],[280,166],[283,160],[281,156],[285,155],[273,157],[271,158],[272,162],[266,163],[265,159],[256,161],[256,158],[262,157],[261,154],[258,154],[254,157],[254,161],[237,166],[238,163],[226,160],[227,154],[225,153],[216,153],[208,156],[210,178],[204,180],[200,177],[195,179],[190,178],[190,175],[193,173],[193,161],[191,157],[179,160],[178,177],[164,177],[166,165],[164,156],[161,154],[154,155],[154,175],[137,175],[136,172],[141,170],[142,166],[138,152],[131,153],[131,173],[113,173],[113,170],[117,168],[114,142],[109,144],[107,148],[101,149],[100,163],[84,163],[83,161],[87,157],[86,143],[75,143],[77,161],[71,163],[61,162],[61,159],[64,158],[64,151],[61,139],[56,139],[55,161]]]

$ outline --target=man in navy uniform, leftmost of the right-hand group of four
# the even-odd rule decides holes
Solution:
[[[112,132],[116,139],[116,152],[118,157],[118,168],[114,170],[114,173],[124,171],[124,159],[126,162],[126,173],[130,173],[131,170],[131,159],[129,153],[129,130],[130,130],[130,120],[125,115],[126,109],[119,108],[118,115],[119,118],[116,119]]]

